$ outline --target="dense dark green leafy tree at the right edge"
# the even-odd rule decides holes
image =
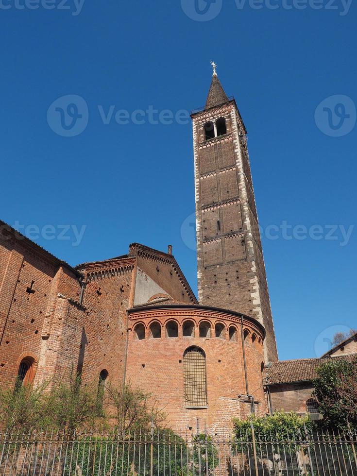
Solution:
[[[319,401],[323,424],[357,425],[357,357],[332,358],[317,369],[313,396]]]

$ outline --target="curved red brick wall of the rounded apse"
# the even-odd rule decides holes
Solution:
[[[168,338],[165,335],[165,325],[174,320],[179,325],[179,337]],[[182,324],[185,320],[195,323],[195,337],[183,337]],[[150,324],[159,322],[162,325],[161,339],[150,338]],[[211,337],[200,338],[199,323],[211,323]],[[224,339],[215,337],[216,322],[225,326]],[[135,325],[144,323],[146,327],[145,340],[137,340]],[[204,308],[171,306],[165,309],[146,309],[130,312],[130,334],[127,360],[127,381],[135,386],[153,393],[153,399],[159,408],[168,414],[168,424],[177,428],[195,427],[199,418],[203,428],[215,431],[227,430],[232,424],[233,417],[246,416],[251,411],[249,403],[243,403],[239,395],[246,394],[242,345],[240,339],[239,319],[229,312],[205,310]],[[228,338],[228,328],[237,328],[236,341]],[[259,414],[265,413],[261,363],[264,360],[262,335],[259,328],[245,322],[244,328],[249,329],[246,339],[246,354],[248,368],[249,390],[259,402]],[[257,338],[252,343],[251,336]],[[183,355],[187,347],[196,345],[204,350],[206,355],[207,398],[208,408],[185,408]]]

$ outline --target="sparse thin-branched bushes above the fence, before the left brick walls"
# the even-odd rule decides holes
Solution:
[[[0,427],[30,431],[44,427],[70,436],[76,428],[112,428],[120,436],[159,427],[165,414],[152,395],[140,388],[124,388],[98,382],[84,384],[70,369],[56,382],[39,387],[17,382],[14,389],[0,389]]]

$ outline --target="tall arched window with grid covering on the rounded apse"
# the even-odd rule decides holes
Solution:
[[[207,405],[206,356],[200,347],[188,347],[184,353],[184,395],[189,407]]]

